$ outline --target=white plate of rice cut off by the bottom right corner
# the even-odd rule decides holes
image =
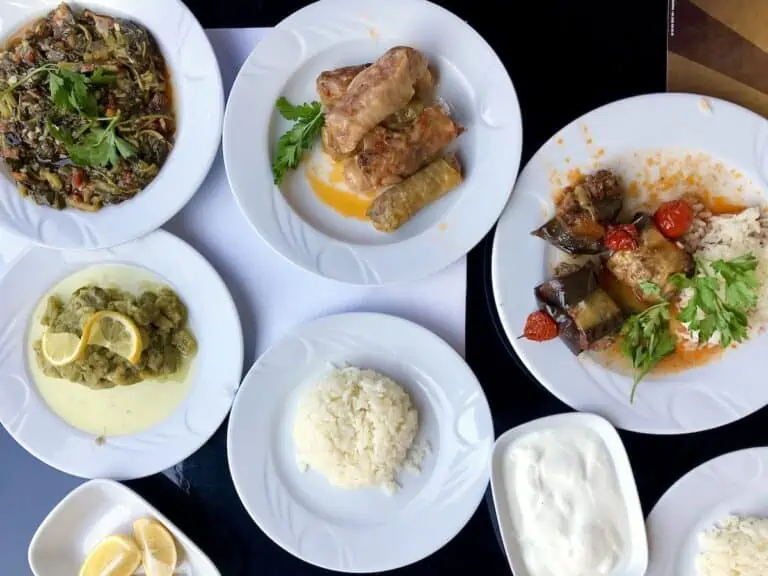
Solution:
[[[648,516],[646,576],[768,574],[768,448],[731,452],[678,480]]]

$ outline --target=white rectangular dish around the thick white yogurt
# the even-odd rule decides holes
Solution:
[[[529,576],[528,571],[525,569],[522,552],[514,538],[514,521],[509,512],[510,506],[504,490],[504,454],[515,442],[532,432],[555,430],[558,428],[586,428],[595,432],[605,443],[616,470],[619,489],[627,507],[627,517],[629,519],[629,553],[617,570],[611,572],[611,576],[643,576],[648,565],[648,542],[645,537],[640,497],[637,493],[637,486],[635,485],[635,477],[632,474],[629,457],[616,429],[607,420],[594,414],[586,413],[558,414],[556,416],[539,418],[538,420],[533,420],[507,430],[496,440],[491,461],[491,489],[493,491],[494,506],[496,507],[496,518],[499,522],[499,531],[501,532],[501,538],[504,542],[507,559],[512,571],[517,576]]]

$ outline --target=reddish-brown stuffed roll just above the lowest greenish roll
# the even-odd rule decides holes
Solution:
[[[358,192],[397,184],[437,158],[463,130],[439,106],[425,108],[402,131],[377,126],[363,138],[360,152],[344,162],[344,179]]]

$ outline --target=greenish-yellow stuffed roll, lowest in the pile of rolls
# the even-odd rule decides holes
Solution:
[[[368,208],[368,217],[380,232],[394,232],[419,210],[456,188],[461,181],[459,159],[455,154],[448,154],[384,190]]]

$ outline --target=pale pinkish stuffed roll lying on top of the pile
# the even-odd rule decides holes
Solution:
[[[353,152],[374,126],[404,108],[425,77],[427,59],[407,46],[391,48],[349,84],[325,117],[327,139],[339,154]]]

